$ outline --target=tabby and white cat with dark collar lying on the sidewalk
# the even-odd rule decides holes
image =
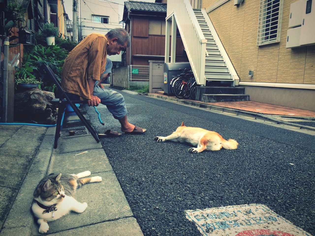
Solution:
[[[39,224],[39,233],[47,233],[49,221],[59,219],[70,211],[82,213],[88,206],[86,202],[80,203],[72,196],[75,190],[86,183],[101,182],[100,176],[87,177],[90,171],[77,175],[55,175],[44,177],[34,191],[32,211]]]

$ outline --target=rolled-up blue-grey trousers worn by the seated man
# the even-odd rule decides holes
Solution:
[[[106,105],[107,109],[112,113],[115,119],[119,120],[127,115],[125,98],[120,93],[112,90],[101,88],[97,85],[99,81],[95,81],[93,95],[100,98],[100,103]],[[79,96],[67,93],[71,100],[79,100]]]

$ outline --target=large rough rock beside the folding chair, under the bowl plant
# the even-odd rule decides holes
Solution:
[[[40,124],[56,124],[56,106],[50,101],[54,93],[37,88],[14,94],[14,120],[36,121]]]

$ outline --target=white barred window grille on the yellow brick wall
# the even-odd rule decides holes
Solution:
[[[257,46],[280,42],[283,0],[260,0]]]

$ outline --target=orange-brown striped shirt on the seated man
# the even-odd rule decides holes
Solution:
[[[61,87],[65,92],[91,99],[87,78],[100,80],[105,70],[107,45],[104,35],[92,33],[73,48],[61,72]]]

